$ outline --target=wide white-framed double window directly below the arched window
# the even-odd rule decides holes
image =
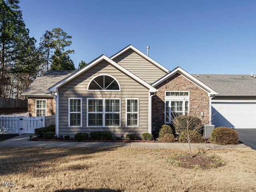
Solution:
[[[87,98],[87,126],[119,127],[120,98]]]

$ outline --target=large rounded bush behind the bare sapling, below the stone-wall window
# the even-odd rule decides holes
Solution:
[[[189,130],[194,130],[195,128],[198,128],[198,125],[202,126],[202,121],[199,118],[194,116],[186,116],[186,115],[176,116],[173,121],[175,122],[176,120],[179,122],[178,124],[181,126],[179,127],[180,130],[187,129],[187,126],[188,126],[187,122],[189,122],[189,127],[188,127]],[[174,123],[174,128],[176,132],[178,132],[177,127],[175,126],[176,124]],[[202,131],[202,128],[199,128],[198,132],[201,132],[201,131]]]

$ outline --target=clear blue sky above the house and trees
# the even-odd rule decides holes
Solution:
[[[30,36],[60,27],[75,66],[132,44],[169,70],[256,74],[255,0],[20,0]]]

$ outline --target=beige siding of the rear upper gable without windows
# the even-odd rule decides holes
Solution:
[[[131,49],[115,58],[114,62],[120,64],[148,84],[152,84],[167,74]]]

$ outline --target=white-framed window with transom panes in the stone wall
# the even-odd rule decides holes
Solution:
[[[189,92],[166,91],[165,92],[165,123],[171,123],[172,118],[178,115],[188,115]]]

